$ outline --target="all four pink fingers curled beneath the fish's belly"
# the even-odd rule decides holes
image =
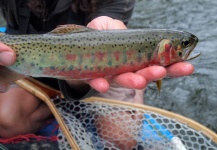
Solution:
[[[116,87],[125,87],[131,89],[143,89],[149,82],[163,79],[166,75],[170,77],[181,77],[192,74],[194,67],[187,62],[173,64],[167,68],[161,66],[150,66],[137,71],[128,72],[114,76],[109,80],[97,78],[88,81],[88,84],[99,92],[107,92],[110,84]]]

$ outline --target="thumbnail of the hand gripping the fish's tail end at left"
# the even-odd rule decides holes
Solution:
[[[0,64],[9,66],[14,63],[14,54],[12,52],[1,52],[0,53]]]

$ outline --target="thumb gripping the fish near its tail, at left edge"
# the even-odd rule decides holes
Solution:
[[[15,62],[15,60],[15,52],[10,47],[0,43],[0,65],[12,65]]]

